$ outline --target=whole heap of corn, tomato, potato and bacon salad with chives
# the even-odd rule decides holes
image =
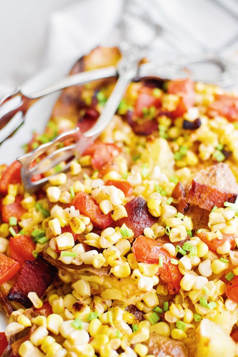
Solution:
[[[97,47],[72,73],[119,59]],[[114,85],[64,90],[26,151],[92,127]],[[236,94],[145,79],[42,189],[26,192],[19,162],[1,165],[0,354],[238,356],[237,139]]]

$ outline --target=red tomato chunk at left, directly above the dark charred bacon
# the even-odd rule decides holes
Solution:
[[[11,237],[9,241],[9,255],[22,266],[26,260],[35,260],[32,251],[36,245],[25,235]]]

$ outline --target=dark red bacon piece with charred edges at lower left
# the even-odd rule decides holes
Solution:
[[[28,293],[34,291],[41,297],[52,283],[55,272],[56,269],[41,256],[38,256],[35,261],[26,261],[16,283],[7,295],[8,300],[18,301],[26,308],[31,307],[32,302],[27,297]]]

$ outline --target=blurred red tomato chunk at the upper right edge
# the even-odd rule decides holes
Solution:
[[[222,115],[229,121],[238,121],[238,98],[229,95],[215,95],[215,101],[208,106],[208,115]]]

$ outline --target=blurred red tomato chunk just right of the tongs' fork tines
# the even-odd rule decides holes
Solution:
[[[118,154],[120,154],[121,149],[115,144],[105,144],[103,142],[95,142],[90,147],[88,147],[83,155],[92,156],[92,167],[94,170],[101,170],[107,162],[110,162]]]

